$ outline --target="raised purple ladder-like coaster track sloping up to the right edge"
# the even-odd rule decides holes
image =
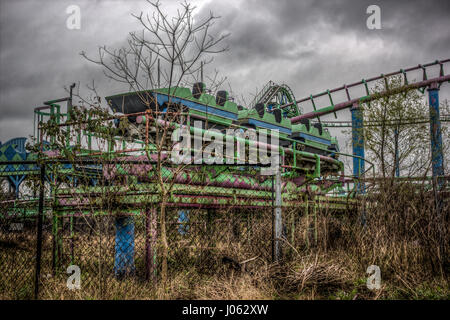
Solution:
[[[310,95],[309,97],[305,97],[300,100],[286,103],[286,104],[282,105],[280,108],[282,108],[282,109],[288,108],[295,104],[297,104],[297,105],[305,104],[305,103],[312,104],[314,111],[292,117],[291,118],[292,124],[298,123],[302,119],[313,119],[313,118],[324,116],[324,115],[327,115],[330,113],[334,113],[335,117],[337,118],[336,111],[350,108],[355,104],[369,103],[370,101],[380,99],[383,97],[388,97],[388,96],[398,94],[401,92],[405,92],[406,90],[410,90],[410,89],[418,89],[421,92],[424,92],[425,88],[430,85],[436,85],[436,86],[440,87],[440,85],[443,82],[450,82],[449,71],[448,70],[447,70],[447,72],[444,71],[444,64],[448,64],[449,62],[450,62],[450,59],[436,60],[435,62],[431,62],[431,63],[427,63],[427,64],[423,64],[423,65],[419,64],[416,67],[400,69],[399,71],[391,72],[388,74],[381,74],[380,76],[373,77],[370,79],[362,79],[361,81],[358,81],[358,82],[355,82],[355,83],[352,83],[349,85],[344,84],[343,86],[340,86],[340,87],[332,89],[332,90],[326,90],[324,92],[321,92],[321,93],[318,93],[315,95]],[[429,78],[428,74],[430,73],[430,68],[435,67],[435,66],[439,66],[439,76]],[[411,81],[410,79],[408,79],[408,73],[412,72],[412,71],[417,71],[417,70],[422,70],[422,80],[418,81],[418,80],[414,79]],[[397,76],[397,75],[402,76],[403,86],[398,87],[398,88],[389,88],[388,78],[392,77],[392,76]],[[387,90],[382,91],[382,92],[370,92],[369,84],[374,83],[379,80],[384,80]],[[352,99],[350,97],[349,89],[356,88],[356,87],[360,87],[360,88],[362,87],[365,90],[366,95]],[[333,102],[332,94],[337,94],[337,93],[341,93],[341,94],[345,93],[346,99],[342,102],[335,104]],[[324,97],[324,96],[328,97],[329,104],[322,105],[322,106],[317,105],[315,99]],[[320,107],[320,108],[318,108],[318,107]]]

